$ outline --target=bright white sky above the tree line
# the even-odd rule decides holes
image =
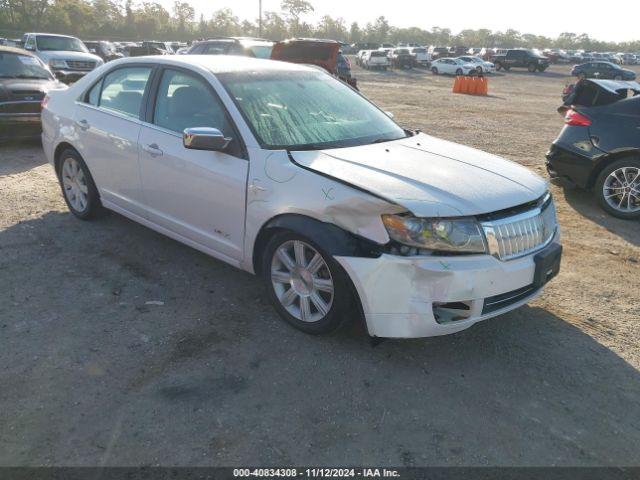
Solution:
[[[171,9],[173,0],[158,0]],[[197,15],[205,17],[220,8],[231,8],[241,19],[258,17],[258,0],[187,0]],[[310,0],[315,12],[305,17],[315,22],[322,15],[342,17],[360,25],[384,15],[391,25],[430,29],[437,26],[457,33],[465,28],[507,30],[557,37],[562,32],[587,33],[604,41],[640,39],[637,2],[618,0],[608,7],[595,0]],[[262,0],[263,11],[279,11],[280,0]]]

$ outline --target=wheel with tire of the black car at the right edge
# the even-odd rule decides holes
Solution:
[[[626,169],[626,176],[623,169]],[[629,182],[627,187],[623,179]],[[640,158],[622,158],[605,167],[598,175],[594,189],[605,212],[625,220],[640,218]],[[617,192],[622,195],[616,195]],[[637,192],[635,196],[633,192]],[[620,204],[616,206],[618,200]]]

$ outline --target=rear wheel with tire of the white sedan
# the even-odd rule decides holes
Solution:
[[[80,220],[91,220],[103,213],[100,194],[80,154],[64,150],[56,165],[62,196],[71,213]]]

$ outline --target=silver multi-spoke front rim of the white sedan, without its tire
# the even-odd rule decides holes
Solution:
[[[276,249],[271,284],[282,307],[303,322],[322,320],[333,304],[329,267],[320,253],[301,240],[289,240]]]

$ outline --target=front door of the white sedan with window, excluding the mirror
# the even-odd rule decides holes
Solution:
[[[241,260],[249,162],[242,139],[215,90],[200,75],[158,72],[140,133],[140,171],[149,218],[221,255]],[[182,132],[219,129],[224,152],[186,149]]]

